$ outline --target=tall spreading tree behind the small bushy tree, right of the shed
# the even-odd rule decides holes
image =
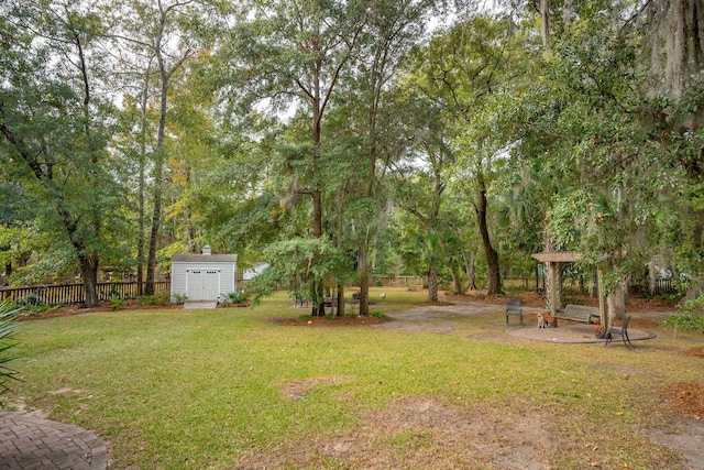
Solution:
[[[255,1],[250,21],[235,30],[223,53],[233,54],[248,78],[241,103],[266,102],[274,110],[295,109],[308,119],[304,152],[289,154],[293,171],[289,192],[309,197],[312,207],[311,236],[324,236],[323,197],[330,188],[323,120],[333,100],[340,74],[352,59],[365,24],[366,3],[361,1]],[[240,76],[234,77],[238,81]],[[230,87],[226,89],[235,92]],[[300,150],[300,149],[299,149]],[[323,315],[323,285],[316,280],[312,315]]]

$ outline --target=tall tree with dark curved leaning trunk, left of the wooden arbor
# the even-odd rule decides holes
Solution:
[[[442,108],[458,135],[458,175],[475,210],[491,294],[499,293],[502,283],[488,227],[488,192],[495,162],[509,142],[481,116],[491,112],[502,87],[512,83],[510,65],[521,51],[512,22],[476,17],[439,32],[417,51],[413,64],[415,86]]]

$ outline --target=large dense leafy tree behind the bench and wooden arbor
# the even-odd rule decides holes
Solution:
[[[516,150],[528,156],[528,165],[543,165],[553,182],[560,181],[543,185],[552,192],[546,195],[550,241],[557,249],[584,253],[584,264],[607,256],[601,263],[610,318],[623,316],[629,276],[641,275],[653,254],[672,252],[675,239],[678,251],[688,254],[670,256],[673,269],[686,264],[690,273],[701,272],[689,261],[701,247],[701,226],[686,222],[701,221],[692,217],[701,209],[690,205],[689,196],[679,196],[691,195],[689,189],[671,189],[701,188],[702,141],[697,112],[692,112],[698,109],[698,78],[674,79],[678,69],[696,64],[698,46],[685,30],[698,20],[689,19],[682,34],[666,41],[654,25],[662,28],[661,14],[669,7],[648,17],[649,4],[654,6],[574,4],[574,28],[556,29],[547,79],[527,87],[531,91],[518,107],[527,111],[527,124]],[[667,23],[680,24],[671,20]],[[678,35],[689,37],[683,44],[692,48],[684,55],[668,47],[678,44]],[[670,62],[684,56],[684,63]],[[676,65],[673,75],[663,64]]]

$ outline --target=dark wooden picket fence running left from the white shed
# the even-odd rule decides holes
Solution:
[[[105,282],[98,283],[98,300],[111,298],[135,298],[139,296],[139,283],[136,282]],[[146,283],[142,283],[142,292]],[[155,282],[154,294],[170,294],[172,283]],[[82,284],[37,285],[29,287],[0,288],[0,300],[23,300],[31,304],[69,305],[86,302],[86,291]]]

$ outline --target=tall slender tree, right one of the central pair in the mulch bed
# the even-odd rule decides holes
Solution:
[[[386,200],[380,199],[381,185],[392,163],[407,149],[407,135],[399,132],[400,113],[395,87],[409,48],[422,37],[429,15],[436,9],[432,0],[408,2],[380,1],[369,13],[369,28],[352,74],[359,125],[362,139],[360,155],[364,162],[361,199],[372,209],[358,219],[361,239],[358,266],[360,272],[360,314],[369,314],[370,248],[377,238]],[[353,96],[354,96],[353,95]]]

